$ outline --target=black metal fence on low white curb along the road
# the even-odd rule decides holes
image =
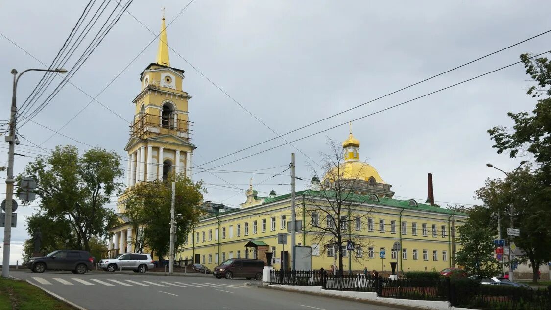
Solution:
[[[544,290],[481,285],[469,279],[392,280],[374,275],[328,274],[327,271],[272,270],[270,284],[321,286],[326,290],[376,292],[379,297],[449,301],[479,309],[550,309],[551,287]]]

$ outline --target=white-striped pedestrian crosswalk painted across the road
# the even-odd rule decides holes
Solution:
[[[105,285],[105,286],[147,286],[147,287],[179,287],[180,289],[242,289],[239,286],[226,283],[199,283],[181,281],[147,281],[147,280],[115,280],[115,279],[94,279],[94,278],[41,278],[34,276],[33,280],[42,285]]]

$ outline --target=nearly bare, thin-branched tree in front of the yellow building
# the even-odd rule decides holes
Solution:
[[[314,233],[312,242],[325,246],[335,246],[334,255],[337,255],[339,273],[343,273],[343,257],[347,241],[354,242],[355,247],[366,248],[370,244],[365,237],[352,235],[352,225],[356,221],[360,225],[366,225],[371,208],[359,206],[365,199],[355,194],[355,186],[358,175],[349,175],[344,168],[344,149],[341,145],[327,138],[327,145],[331,152],[320,153],[322,157],[323,183],[318,191],[311,191],[305,195],[305,213],[310,219],[316,219],[305,223],[305,229]],[[365,162],[362,163],[362,167]],[[320,180],[313,167],[314,177]],[[359,170],[361,171],[361,169]],[[358,173],[359,173],[358,171]],[[326,184],[326,181],[329,183]],[[354,211],[353,211],[354,209]],[[364,209],[358,211],[358,209]],[[325,218],[325,220],[324,220]],[[349,253],[353,255],[353,253]],[[353,255],[359,261],[363,255]]]

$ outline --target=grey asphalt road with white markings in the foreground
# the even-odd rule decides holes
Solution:
[[[245,286],[246,279],[134,273],[12,272],[87,309],[395,309]]]

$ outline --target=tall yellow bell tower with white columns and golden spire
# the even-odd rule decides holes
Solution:
[[[125,146],[128,152],[127,191],[140,182],[165,180],[171,173],[183,173],[191,178],[191,162],[196,146],[190,140],[192,123],[188,121],[188,100],[183,90],[184,71],[170,67],[165,19],[156,61],[140,74],[141,90],[132,103],[134,118],[130,138]],[[136,232],[132,231],[125,210],[125,195],[118,199],[119,224],[112,227],[110,256],[132,252]]]

